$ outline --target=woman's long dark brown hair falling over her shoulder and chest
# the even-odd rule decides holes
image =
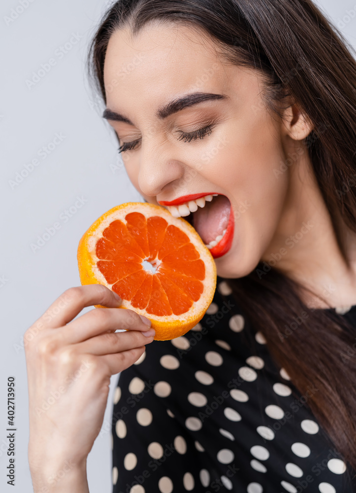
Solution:
[[[123,26],[136,34],[151,20],[203,28],[226,61],[263,74],[266,103],[277,114],[284,98],[298,103],[312,123],[305,144],[346,257],[341,225],[356,232],[356,63],[343,35],[310,0],[120,0],[89,47],[89,78],[105,102],[110,36]],[[278,265],[259,263],[225,281],[298,391],[318,389],[307,405],[356,469],[356,331],[331,309],[308,309],[300,285]]]

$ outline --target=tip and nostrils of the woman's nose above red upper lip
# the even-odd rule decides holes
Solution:
[[[184,165],[177,156],[170,155],[169,147],[156,150],[142,144],[140,153],[138,185],[142,193],[147,196],[157,196],[163,189],[177,187],[184,175]]]

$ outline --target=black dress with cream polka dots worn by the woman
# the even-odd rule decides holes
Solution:
[[[119,374],[113,493],[356,492],[307,398],[218,277],[200,323]]]

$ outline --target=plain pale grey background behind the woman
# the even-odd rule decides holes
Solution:
[[[118,204],[143,201],[125,174],[111,127],[100,118],[101,102],[91,93],[84,72],[89,39],[111,2],[22,2],[28,6],[12,21],[7,18],[12,9],[13,17],[16,16],[20,1],[2,0],[0,7],[0,490],[3,492],[32,491],[27,459],[29,423],[23,333],[65,289],[80,285],[76,251],[82,234],[92,222]],[[318,4],[356,47],[356,0],[320,0]],[[70,43],[70,39],[73,42],[67,45],[70,49],[59,55],[60,46]],[[32,72],[37,72],[51,58],[56,63],[29,87],[27,79],[32,78]],[[56,139],[58,145],[52,144],[50,153],[42,149],[38,155],[43,146],[53,142],[56,133],[61,136],[61,141]],[[25,165],[29,167],[34,158],[38,159],[38,165],[14,184],[16,176],[20,181],[17,173],[26,169]],[[82,204],[80,208],[74,206],[77,197],[82,198],[81,203],[77,202],[77,206]],[[70,217],[66,216],[66,210]],[[55,222],[59,223],[58,229],[50,230],[55,234],[34,249],[38,236]],[[4,452],[9,375],[16,377],[15,488],[7,485],[8,458]],[[88,458],[92,493],[109,493],[112,488],[110,423],[117,380],[118,375],[114,375],[102,436],[95,440]]]

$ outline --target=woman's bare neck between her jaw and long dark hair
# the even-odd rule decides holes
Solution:
[[[283,213],[262,261],[281,257],[275,268],[301,283],[310,308],[356,305],[356,234],[343,225],[338,238],[306,150],[288,173]]]

